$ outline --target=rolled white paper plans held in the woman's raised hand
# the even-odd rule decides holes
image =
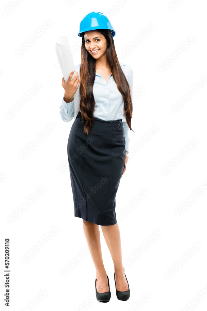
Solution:
[[[60,64],[60,67],[63,73],[64,80],[66,82],[68,80],[68,77],[70,76],[71,71],[75,70],[73,57],[72,57],[71,50],[70,50],[70,44],[66,36],[61,36],[57,38],[55,50],[56,50],[57,58],[58,58],[58,61],[59,61],[59,64]],[[74,71],[72,79],[75,74],[76,74],[76,71]],[[80,84],[79,84],[79,87],[80,87]],[[76,118],[79,112],[79,104],[80,104],[79,87],[74,94],[74,119]]]

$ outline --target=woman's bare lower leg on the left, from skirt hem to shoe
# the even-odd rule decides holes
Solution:
[[[109,291],[106,270],[101,253],[101,240],[99,225],[83,220],[83,231],[87,240],[88,248],[96,268],[96,288],[99,293]]]

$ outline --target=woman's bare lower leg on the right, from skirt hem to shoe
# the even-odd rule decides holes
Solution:
[[[114,262],[116,289],[119,291],[128,290],[128,283],[124,275],[125,269],[122,263],[121,238],[118,223],[111,226],[101,226],[101,229]]]

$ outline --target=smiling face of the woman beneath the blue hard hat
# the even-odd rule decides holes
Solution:
[[[93,58],[97,59],[105,54],[108,42],[106,41],[104,35],[102,35],[99,31],[97,30],[86,31],[84,34],[84,40],[85,40],[85,47],[88,53],[90,53],[93,56]],[[92,52],[97,50],[99,51],[95,53]]]

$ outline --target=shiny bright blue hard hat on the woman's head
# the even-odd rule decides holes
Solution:
[[[83,17],[80,22],[80,31],[77,35],[82,37],[82,33],[89,30],[108,29],[114,37],[116,32],[111,26],[109,19],[101,12],[91,12]]]

